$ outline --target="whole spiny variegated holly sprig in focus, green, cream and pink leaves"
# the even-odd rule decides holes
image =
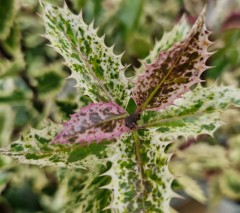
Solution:
[[[170,212],[174,177],[166,148],[179,136],[213,135],[222,111],[240,105],[239,89],[200,84],[212,55],[205,9],[191,30],[182,18],[164,34],[128,79],[122,54],[105,45],[94,23],[66,6],[41,5],[45,37],[92,103],[63,124],[45,121],[1,153],[20,163],[77,169],[81,178],[69,188],[66,211]]]

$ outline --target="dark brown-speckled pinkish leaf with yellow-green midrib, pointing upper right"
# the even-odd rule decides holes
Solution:
[[[207,49],[212,43],[204,17],[205,10],[182,42],[160,52],[154,63],[145,65],[146,71],[132,89],[138,111],[164,109],[202,81],[200,75],[208,69],[205,63],[211,53]]]

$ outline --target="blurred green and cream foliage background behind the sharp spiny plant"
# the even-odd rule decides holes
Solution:
[[[48,0],[63,6],[63,0]],[[144,59],[185,13],[191,25],[207,4],[207,25],[218,52],[208,64],[205,84],[240,86],[240,1],[239,0],[66,0],[74,12],[83,11],[86,23],[93,19],[99,36],[106,34],[108,46],[132,64],[134,74]],[[0,0],[0,147],[21,137],[42,121],[62,122],[89,102],[65,79],[70,70],[63,59],[47,46],[37,0]],[[228,123],[215,138],[179,138],[169,148],[177,150],[171,170],[181,176],[173,183],[200,204],[194,212],[216,211],[224,199],[240,202],[240,113],[232,107],[223,115]],[[184,178],[182,178],[184,177]],[[81,181],[77,171],[19,165],[0,157],[0,212],[66,212],[69,200]],[[188,197],[187,200],[190,200]],[[191,203],[191,202],[190,202]],[[192,203],[191,203],[192,204]],[[185,201],[173,202],[180,212],[193,212]],[[190,210],[190,211],[189,211]],[[220,210],[219,210],[220,212]],[[240,212],[240,207],[239,211]],[[231,212],[229,212],[231,213]]]

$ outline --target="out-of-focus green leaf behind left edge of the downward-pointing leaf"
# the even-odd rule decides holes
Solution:
[[[110,191],[101,186],[109,182],[109,177],[100,176],[106,167],[97,166],[91,171],[66,170],[65,182],[67,200],[64,212],[101,212],[110,202]],[[110,213],[110,211],[105,211]]]

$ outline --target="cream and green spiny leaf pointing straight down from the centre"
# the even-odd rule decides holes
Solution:
[[[139,137],[139,138],[138,138]],[[173,177],[168,171],[168,143],[159,141],[148,130],[127,133],[109,145],[108,160],[112,167],[103,175],[111,182],[104,186],[112,191],[106,209],[113,212],[169,212],[173,195]]]

